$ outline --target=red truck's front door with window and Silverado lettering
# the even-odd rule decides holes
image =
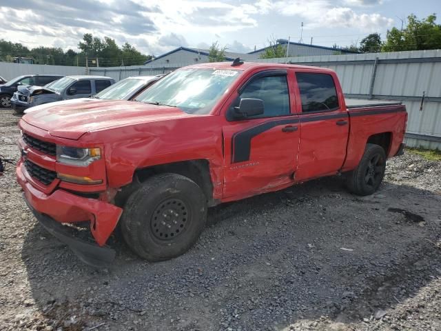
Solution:
[[[229,118],[223,126],[224,198],[248,197],[291,185],[298,153],[298,116],[287,70],[258,72],[239,89],[228,106],[231,114],[242,98],[263,100],[264,114]],[[291,75],[294,74],[291,72]],[[291,77],[293,79],[293,77]]]

